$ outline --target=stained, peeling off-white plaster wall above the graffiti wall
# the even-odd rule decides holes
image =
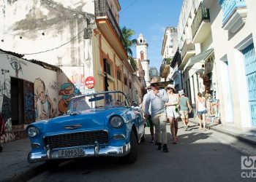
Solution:
[[[83,63],[83,30],[93,17],[83,9],[94,3],[65,2],[5,0],[0,7],[0,47],[53,65]]]

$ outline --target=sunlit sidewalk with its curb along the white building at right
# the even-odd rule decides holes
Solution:
[[[189,122],[198,124],[197,120],[194,118],[189,118]],[[256,146],[256,130],[238,130],[230,127],[225,127],[222,124],[206,124],[209,130],[214,130],[217,132],[222,132],[223,134],[230,135],[237,138],[240,141],[252,144]]]

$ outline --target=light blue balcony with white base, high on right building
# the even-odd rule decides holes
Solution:
[[[244,25],[247,16],[247,7],[244,0],[219,0],[222,6],[222,28],[236,33]]]

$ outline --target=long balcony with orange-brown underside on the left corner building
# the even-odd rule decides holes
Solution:
[[[116,18],[111,11],[107,0],[94,0],[95,17],[97,27],[105,39],[116,50],[121,60],[127,60],[127,52],[124,50],[122,42],[124,37],[121,33]]]

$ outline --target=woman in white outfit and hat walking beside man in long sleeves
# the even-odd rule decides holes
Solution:
[[[173,143],[178,143],[177,133],[178,133],[178,94],[175,93],[175,88],[173,84],[168,84],[165,87],[168,95],[168,102],[165,103],[167,119],[170,122],[170,132],[173,135]]]

